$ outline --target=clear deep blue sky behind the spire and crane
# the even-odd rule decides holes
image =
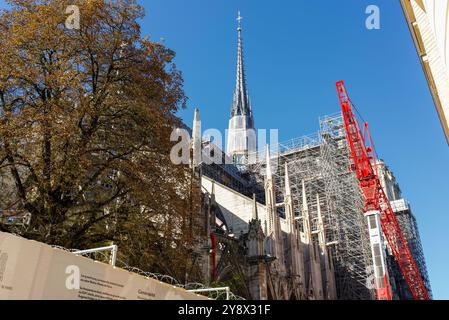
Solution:
[[[417,216],[434,298],[449,299],[449,147],[399,0],[141,3],[143,34],[177,52],[187,124],[199,107],[203,129],[227,127],[239,9],[258,128],[279,129],[281,141],[317,131],[319,116],[339,111],[335,82],[344,79]],[[380,8],[380,30],[365,28],[370,4]]]

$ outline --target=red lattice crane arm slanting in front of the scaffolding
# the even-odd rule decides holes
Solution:
[[[346,138],[352,154],[352,170],[356,172],[365,197],[365,212],[377,211],[380,213],[383,234],[396,258],[413,298],[415,300],[429,300],[429,293],[424,285],[419,269],[391,208],[390,201],[380,183],[368,124],[364,124],[362,134],[343,81],[337,82],[337,92],[343,113]],[[366,143],[367,140],[369,140],[369,147]],[[389,291],[387,276],[385,276],[385,281],[386,291]],[[391,295],[388,292],[379,292],[378,290],[377,293],[379,299],[382,299],[382,295],[384,299],[391,299]]]

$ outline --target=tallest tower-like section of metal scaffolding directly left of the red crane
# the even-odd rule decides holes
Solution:
[[[320,120],[322,173],[330,216],[329,241],[335,242],[334,263],[340,299],[370,299],[371,254],[364,199],[355,174],[350,171],[350,150],[343,118]]]

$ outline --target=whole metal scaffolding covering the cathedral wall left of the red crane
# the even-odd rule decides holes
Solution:
[[[278,203],[283,202],[284,167],[288,166],[292,200],[298,228],[303,231],[302,181],[306,189],[313,241],[318,241],[318,201],[323,215],[326,245],[333,258],[338,299],[372,299],[370,252],[363,216],[363,195],[357,178],[350,172],[350,152],[343,118],[320,119],[317,134],[270,146]],[[265,159],[248,166],[254,183],[263,181]],[[257,188],[255,188],[257,189]],[[318,197],[317,197],[318,195]],[[259,196],[263,196],[259,194]],[[282,207],[279,214],[284,215]]]

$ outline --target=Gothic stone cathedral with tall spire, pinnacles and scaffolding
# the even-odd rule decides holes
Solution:
[[[201,138],[198,110],[192,129],[193,154],[201,150],[192,167],[208,235],[207,245],[198,249],[203,281],[229,286],[252,300],[375,299],[363,195],[348,169],[342,116],[324,116],[317,133],[257,150],[240,13],[237,20],[236,84],[226,150]],[[223,161],[204,161],[217,154]],[[250,155],[257,161],[248,161]],[[383,162],[379,170],[392,176]],[[386,189],[397,186],[391,179],[383,183]],[[405,203],[398,193],[390,200]],[[430,291],[416,221],[409,207],[398,210],[401,227],[414,230],[407,240],[415,244],[413,255]],[[409,298],[388,246],[384,250],[393,297]]]

